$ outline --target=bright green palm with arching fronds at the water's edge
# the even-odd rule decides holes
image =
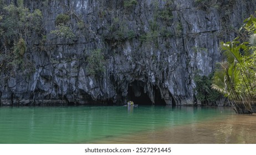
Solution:
[[[247,69],[245,58],[250,55],[252,45],[256,43],[256,37],[252,35],[248,43],[242,44],[237,39],[235,38],[233,42],[222,43],[225,61],[218,63],[220,67],[214,74],[212,88],[229,98],[235,112],[253,113],[254,87],[252,74]]]

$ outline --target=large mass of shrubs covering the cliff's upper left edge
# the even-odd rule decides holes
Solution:
[[[0,10],[0,71],[13,75],[17,69],[33,70],[32,62],[24,55],[28,45],[41,40],[42,12],[39,9],[30,11],[23,6],[22,0],[17,1],[17,5],[0,2]],[[38,38],[34,38],[34,34]],[[24,62],[27,63],[26,68]]]

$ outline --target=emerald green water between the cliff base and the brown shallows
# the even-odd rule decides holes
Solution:
[[[216,107],[0,107],[0,143],[168,143],[149,136],[233,117],[231,108]]]

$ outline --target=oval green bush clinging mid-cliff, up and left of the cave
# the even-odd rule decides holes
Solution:
[[[92,50],[87,62],[86,70],[90,75],[100,74],[105,70],[105,59],[101,49]]]

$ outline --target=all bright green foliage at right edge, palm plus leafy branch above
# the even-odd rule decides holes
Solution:
[[[212,87],[233,101],[237,113],[252,113],[256,100],[256,18],[250,16],[244,22],[247,41],[240,42],[237,37],[221,43],[225,59],[218,63]]]

